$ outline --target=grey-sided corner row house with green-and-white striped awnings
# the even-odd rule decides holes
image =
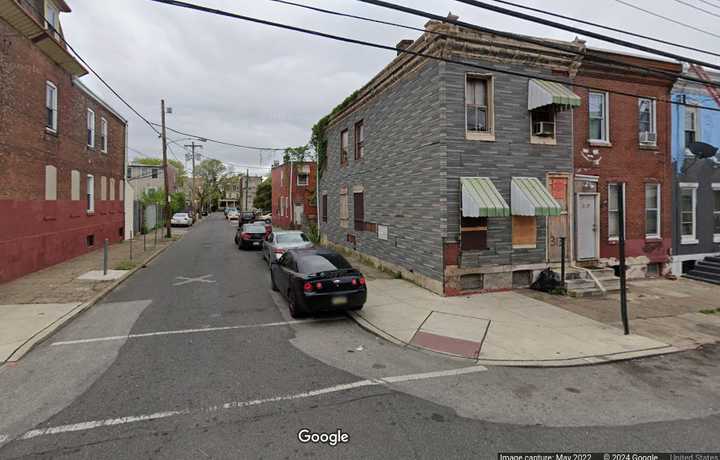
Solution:
[[[571,232],[584,44],[430,21],[398,46],[482,68],[399,53],[330,117],[323,239],[440,294],[527,286]]]

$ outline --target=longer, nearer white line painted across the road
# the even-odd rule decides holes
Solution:
[[[476,372],[483,372],[486,370],[487,370],[487,368],[484,366],[470,366],[470,367],[462,367],[459,369],[449,369],[446,371],[426,372],[426,373],[422,373],[422,374],[398,375],[398,376],[393,376],[393,377],[383,377],[383,378],[379,378],[379,379],[358,380],[356,382],[345,383],[345,384],[341,384],[341,385],[334,385],[331,387],[319,388],[317,390],[310,390],[310,391],[305,391],[302,393],[296,393],[296,394],[291,394],[291,395],[274,396],[274,397],[264,398],[264,399],[254,399],[254,400],[250,400],[250,401],[232,401],[232,402],[228,402],[228,403],[225,403],[225,404],[222,404],[219,406],[210,406],[210,407],[206,407],[206,408],[199,409],[199,410],[183,409],[183,410],[175,410],[175,411],[167,411],[167,412],[155,412],[154,414],[135,415],[135,416],[111,418],[111,419],[105,419],[105,420],[91,420],[91,421],[87,421],[87,422],[73,423],[70,425],[59,425],[59,426],[53,426],[53,427],[48,427],[48,428],[39,428],[39,429],[30,430],[30,431],[25,432],[18,439],[27,440],[27,439],[37,438],[39,436],[71,433],[71,432],[76,432],[76,431],[88,431],[88,430],[94,430],[96,428],[102,428],[102,427],[107,427],[107,426],[127,425],[130,423],[145,422],[145,421],[150,421],[150,420],[160,420],[160,419],[165,419],[165,418],[170,418],[170,417],[177,417],[180,415],[190,415],[193,413],[207,413],[207,412],[217,412],[217,411],[221,411],[221,410],[240,409],[240,408],[244,408],[244,407],[259,406],[262,404],[268,404],[268,403],[274,403],[274,402],[280,402],[280,401],[293,401],[293,400],[297,400],[297,399],[313,398],[316,396],[326,395],[326,394],[330,394],[330,393],[338,393],[341,391],[348,391],[348,390],[353,390],[353,389],[362,388],[362,387],[388,385],[388,384],[392,384],[392,383],[410,382],[410,381],[433,379],[433,378],[439,378],[439,377],[451,377],[451,376],[456,376],[456,375],[466,375],[466,374],[472,374],[472,373],[476,373]],[[0,434],[0,445],[2,443],[4,443],[7,439],[8,439],[7,435]]]

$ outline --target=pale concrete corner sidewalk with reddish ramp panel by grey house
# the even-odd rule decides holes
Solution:
[[[441,297],[399,279],[370,279],[353,317],[395,343],[487,365],[597,364],[680,350],[520,293]]]

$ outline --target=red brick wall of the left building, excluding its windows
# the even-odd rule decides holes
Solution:
[[[58,88],[58,132],[45,129],[45,82]],[[86,113],[95,112],[95,149],[86,146]],[[100,152],[100,119],[108,153]],[[73,84],[72,76],[0,21],[0,282],[122,239],[120,184],[125,124]],[[57,168],[57,200],[45,201],[45,166]],[[80,200],[70,172],[80,172]],[[95,176],[95,213],[85,210],[87,174]],[[115,200],[101,200],[101,176],[115,179]],[[95,235],[95,247],[86,236]]]

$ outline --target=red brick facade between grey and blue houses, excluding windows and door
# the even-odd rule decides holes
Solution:
[[[618,79],[609,75],[584,75],[575,81],[591,87],[669,99],[672,82],[632,77]],[[657,147],[641,147],[638,141],[638,100],[618,94],[609,95],[609,136],[611,146],[590,145],[588,90],[574,88],[582,105],[574,112],[574,165],[576,174],[599,176],[600,192],[600,257],[617,257],[617,243],[608,241],[607,184],[625,182],[626,187],[626,253],[628,257],[647,256],[651,262],[668,260],[672,226],[672,165],[670,156],[670,108],[657,102]],[[597,149],[600,163],[594,165],[583,157]],[[661,185],[661,241],[645,239],[645,183]]]

